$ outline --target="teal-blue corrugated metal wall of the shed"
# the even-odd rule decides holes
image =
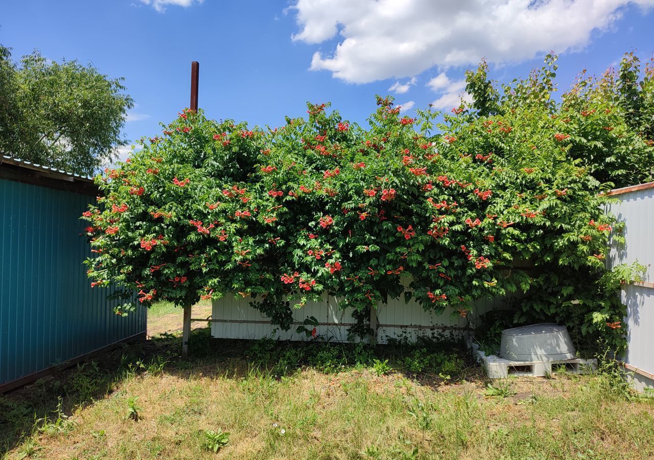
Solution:
[[[0,385],[145,332],[91,289],[79,217],[93,197],[0,179]]]

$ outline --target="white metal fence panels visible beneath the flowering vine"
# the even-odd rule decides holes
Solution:
[[[267,317],[251,308],[250,298],[226,295],[213,302],[213,323],[211,335],[217,338],[259,339],[272,337],[280,340],[304,340],[304,334],[296,333],[298,325],[288,332],[271,326]],[[415,340],[417,336],[453,331],[461,332],[470,321],[490,310],[500,301],[480,301],[467,317],[461,317],[458,311],[447,308],[443,313],[424,311],[414,300],[405,303],[404,298],[390,299],[388,304],[381,304],[377,309],[377,342],[385,344],[389,338],[407,338]],[[303,308],[293,309],[294,321],[301,323],[307,317],[315,317],[320,325],[317,333],[332,342],[346,342],[347,328],[354,323],[351,310],[340,310],[338,299],[323,296],[322,302],[307,302]],[[217,321],[216,321],[217,320]]]

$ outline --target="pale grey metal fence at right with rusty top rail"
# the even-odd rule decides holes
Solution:
[[[654,282],[654,188],[635,190],[616,195],[619,203],[607,206],[607,211],[618,221],[625,222],[625,245],[611,242],[608,266],[625,264],[638,260],[647,265],[644,281]],[[627,285],[622,292],[627,305],[627,343],[625,363],[654,374],[654,289],[645,285]],[[653,385],[654,380],[642,374],[634,374],[636,386]]]

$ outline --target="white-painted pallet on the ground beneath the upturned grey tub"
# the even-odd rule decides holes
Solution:
[[[597,369],[596,359],[566,359],[564,361],[511,361],[496,355],[486,355],[479,345],[467,341],[472,357],[484,368],[486,375],[492,379],[510,376],[545,377],[552,372],[565,368],[573,374],[588,374]]]

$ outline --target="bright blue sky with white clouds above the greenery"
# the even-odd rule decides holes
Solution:
[[[5,2],[0,43],[14,58],[92,62],[125,77],[131,140],[188,106],[190,62],[211,118],[279,126],[305,102],[364,122],[375,94],[449,110],[463,72],[489,59],[508,82],[560,54],[557,81],[654,51],[654,0],[22,0]],[[397,84],[396,84],[397,82]],[[389,89],[389,88],[392,88]],[[410,112],[410,110],[409,110]]]

